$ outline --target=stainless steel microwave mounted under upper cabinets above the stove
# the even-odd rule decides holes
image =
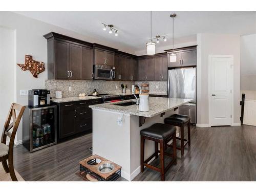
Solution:
[[[115,67],[108,65],[94,65],[94,79],[113,80],[116,77]]]

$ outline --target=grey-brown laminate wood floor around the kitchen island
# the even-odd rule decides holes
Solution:
[[[19,145],[14,167],[25,181],[83,181],[76,175],[78,162],[91,156],[91,145],[92,134],[33,153]],[[191,146],[185,147],[184,157],[180,151],[177,155],[166,181],[256,181],[256,127],[191,127]],[[159,164],[159,158],[152,164]],[[145,168],[134,181],[160,181],[160,173]]]

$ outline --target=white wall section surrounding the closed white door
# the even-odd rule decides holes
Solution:
[[[197,34],[197,124],[208,125],[208,56],[233,55],[233,122],[240,123],[240,36]]]

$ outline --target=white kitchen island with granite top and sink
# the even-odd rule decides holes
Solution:
[[[191,99],[149,97],[150,111],[140,112],[139,105],[122,103],[90,105],[93,110],[93,155],[109,159],[122,166],[121,176],[131,181],[140,173],[140,130],[178,113],[178,107]],[[119,105],[121,104],[121,105]],[[155,143],[145,142],[145,159],[155,150]]]

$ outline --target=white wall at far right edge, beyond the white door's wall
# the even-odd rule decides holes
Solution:
[[[240,88],[256,91],[256,34],[241,36]]]

